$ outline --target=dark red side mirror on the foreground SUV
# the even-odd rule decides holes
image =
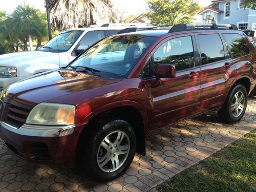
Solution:
[[[157,66],[156,69],[157,79],[166,78],[171,79],[176,77],[176,69],[174,64],[170,63],[161,63]]]

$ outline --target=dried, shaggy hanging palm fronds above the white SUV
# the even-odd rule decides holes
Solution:
[[[47,0],[45,0],[47,1]],[[110,0],[50,0],[51,24],[56,29],[114,23],[115,10]]]

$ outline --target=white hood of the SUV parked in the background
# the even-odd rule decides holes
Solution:
[[[58,65],[58,53],[45,51],[23,51],[0,55],[0,66],[17,67],[22,64],[50,63]]]

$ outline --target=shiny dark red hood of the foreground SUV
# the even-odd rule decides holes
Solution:
[[[6,103],[18,102],[28,106],[40,102],[76,105],[116,89],[110,87],[120,81],[121,79],[101,78],[70,70],[56,70],[11,84],[4,89],[2,100]]]

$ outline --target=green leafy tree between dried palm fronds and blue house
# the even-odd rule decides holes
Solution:
[[[186,24],[200,10],[194,0],[147,0],[147,17],[153,25]]]

